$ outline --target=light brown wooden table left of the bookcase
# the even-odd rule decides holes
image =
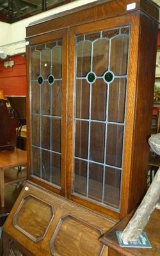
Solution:
[[[4,207],[4,186],[26,180],[26,173],[19,173],[11,168],[26,166],[27,152],[14,148],[14,150],[0,151],[0,192],[1,207]],[[5,172],[4,172],[5,171]],[[4,175],[6,173],[6,177]]]

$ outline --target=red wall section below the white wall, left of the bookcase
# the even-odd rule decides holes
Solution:
[[[26,95],[26,58],[13,56],[13,67],[4,67],[5,61],[0,61],[0,89],[4,95]],[[7,60],[7,61],[9,61]]]

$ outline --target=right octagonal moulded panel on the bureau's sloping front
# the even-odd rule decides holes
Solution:
[[[101,255],[99,243],[102,232],[83,220],[68,214],[60,219],[51,239],[51,253],[55,256]]]

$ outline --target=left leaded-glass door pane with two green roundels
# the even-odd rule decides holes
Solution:
[[[65,125],[65,114],[62,114],[65,106],[65,90],[62,92],[65,43],[63,35],[59,34],[51,34],[51,39],[46,42],[41,42],[40,37],[30,46],[30,122],[31,177],[61,191],[65,182],[65,175],[61,173],[65,145],[61,143],[65,136],[65,132],[61,132]]]

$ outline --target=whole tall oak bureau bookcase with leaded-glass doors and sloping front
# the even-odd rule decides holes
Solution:
[[[159,10],[150,0],[132,2],[100,0],[26,28],[29,173],[27,189],[4,225],[10,248],[15,248],[12,232],[21,232],[19,248],[28,244],[31,255],[43,255],[38,243],[45,255],[108,255],[99,242],[95,254],[71,253],[69,245],[58,252],[63,226],[74,230],[78,222],[80,237],[85,223],[94,241],[106,228],[103,222],[109,229],[145,195]],[[69,217],[60,213],[63,205],[70,205]],[[32,207],[44,223],[39,230],[35,220],[36,236],[22,222],[31,223]],[[75,207],[81,218],[72,215]],[[56,218],[61,224],[53,223]]]

